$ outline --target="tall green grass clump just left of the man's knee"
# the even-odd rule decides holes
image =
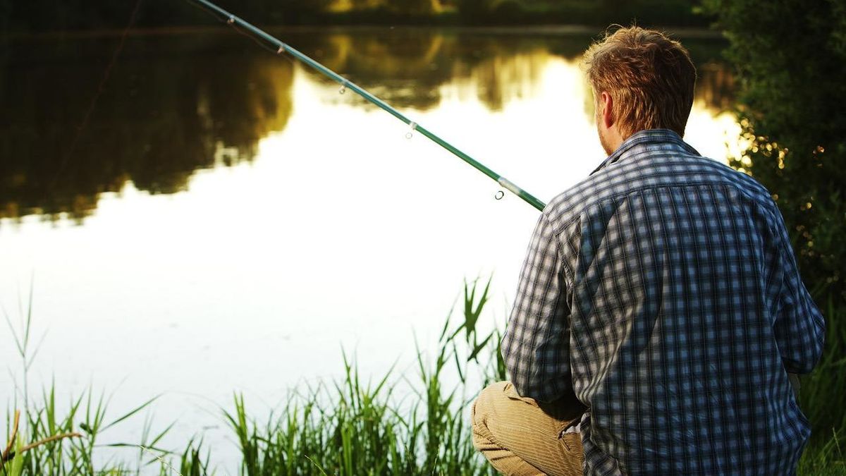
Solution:
[[[469,371],[486,374],[490,368],[479,363],[476,346],[486,348],[484,355],[495,348],[496,331],[477,335],[487,285],[478,299],[476,291],[477,281],[465,285],[464,321],[450,329],[447,320],[433,362],[418,348],[414,381],[394,379],[389,372],[364,383],[344,357],[343,379],[294,394],[283,412],[266,423],[250,418],[243,396],[235,396],[234,410],[225,412],[225,419],[244,457],[241,471],[246,476],[490,473],[471,444],[465,414],[471,400],[459,393]],[[447,388],[452,363],[458,385]],[[407,395],[397,398],[398,390]]]

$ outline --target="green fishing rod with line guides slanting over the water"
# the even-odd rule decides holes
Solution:
[[[260,28],[256,27],[255,25],[250,24],[244,19],[240,19],[239,17],[230,14],[228,11],[224,10],[223,8],[218,7],[214,3],[209,2],[208,0],[190,0],[190,2],[196,3],[201,8],[206,9],[206,11],[211,12],[211,14],[216,14],[220,16],[222,19],[225,19],[228,25],[232,25],[233,27],[239,27],[243,30],[250,32],[253,36],[261,39],[261,41],[266,42],[268,45],[272,46],[272,49],[276,50],[277,54],[289,54],[292,57],[299,59],[300,62],[303,64],[310,66],[312,69],[316,69],[316,71],[322,73],[323,75],[327,76],[329,79],[334,80],[338,84],[341,85],[340,91],[345,91],[347,89],[354,91],[360,97],[364,97],[367,101],[375,104],[379,108],[384,109],[387,113],[393,115],[393,117],[403,121],[405,124],[409,125],[409,132],[406,134],[406,137],[411,137],[412,131],[420,132],[423,136],[428,137],[431,141],[435,142],[437,145],[447,149],[449,152],[453,152],[455,156],[464,160],[466,163],[470,163],[475,169],[479,170],[482,174],[486,174],[493,180],[496,180],[499,185],[501,185],[504,189],[514,193],[514,195],[519,196],[525,202],[528,202],[532,207],[537,208],[538,210],[543,210],[546,206],[544,202],[538,200],[535,196],[532,196],[529,192],[521,189],[519,186],[514,185],[514,182],[511,180],[506,179],[500,174],[497,174],[491,169],[488,169],[483,163],[475,160],[474,158],[470,157],[464,152],[461,152],[458,148],[454,147],[448,141],[444,141],[442,138],[436,136],[435,134],[431,133],[425,127],[417,124],[415,121],[405,117],[403,113],[400,113],[398,110],[392,108],[387,102],[382,101],[376,96],[373,96],[369,91],[361,88],[360,86],[356,85],[350,80],[347,80],[342,75],[338,75],[338,73],[332,71],[332,69],[328,69],[326,66],[316,62],[314,59],[309,58],[303,53],[300,53],[298,50],[294,49],[293,47],[288,46],[288,44],[278,40],[276,37],[271,36],[265,30],[261,30]],[[500,191],[497,193],[497,200],[503,197],[503,192]]]

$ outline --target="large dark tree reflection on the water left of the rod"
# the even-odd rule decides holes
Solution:
[[[0,93],[0,216],[80,220],[98,194],[128,180],[150,193],[182,191],[195,169],[249,159],[261,137],[284,128],[291,64],[228,42],[173,51],[179,44],[134,38],[79,137],[113,42],[14,45]]]

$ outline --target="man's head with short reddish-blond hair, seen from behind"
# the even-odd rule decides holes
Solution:
[[[639,130],[669,129],[684,136],[696,69],[681,43],[658,31],[621,28],[591,45],[583,62],[607,153]]]

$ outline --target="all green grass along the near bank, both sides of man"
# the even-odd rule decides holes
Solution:
[[[417,348],[414,377],[392,369],[379,379],[364,379],[354,357],[343,354],[343,378],[299,389],[281,411],[261,422],[250,417],[244,396],[235,395],[223,419],[239,446],[238,473],[492,474],[470,443],[468,418],[475,392],[489,381],[505,379],[497,329],[486,333],[478,329],[490,282],[465,283],[462,320],[457,324],[447,320],[432,355]],[[844,310],[828,303],[827,350],[816,371],[803,380],[800,404],[815,433],[799,462],[801,475],[846,474]],[[36,350],[30,342],[31,312],[25,314],[21,331],[13,329],[13,335],[26,365],[31,364],[27,352]],[[14,413],[7,415],[9,432],[19,431],[7,435],[8,458],[3,458],[0,476],[225,474],[211,464],[214,449],[202,440],[185,442],[181,451],[158,447],[170,426],[153,431],[149,417],[139,442],[97,443],[103,432],[139,418],[155,400],[107,418],[108,399],[91,390],[70,401],[61,417],[54,390],[42,392],[37,401],[25,399],[20,425],[14,423]],[[135,457],[118,458],[118,449]]]

